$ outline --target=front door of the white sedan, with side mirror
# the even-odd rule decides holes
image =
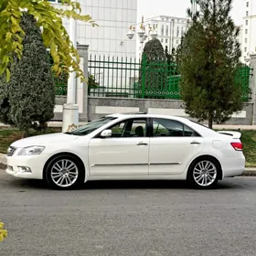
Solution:
[[[148,176],[149,137],[146,119],[127,119],[112,125],[112,136],[92,138],[91,176]]]

